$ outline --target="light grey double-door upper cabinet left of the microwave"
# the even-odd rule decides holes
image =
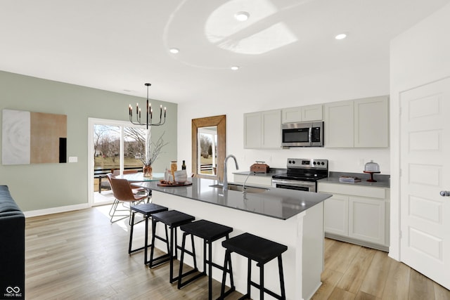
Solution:
[[[281,110],[244,114],[244,148],[281,148]]]

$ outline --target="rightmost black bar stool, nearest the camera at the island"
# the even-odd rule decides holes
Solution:
[[[262,237],[257,237],[250,233],[243,233],[236,237],[231,237],[229,240],[224,240],[222,246],[226,248],[225,251],[225,262],[229,263],[231,268],[231,253],[236,252],[242,256],[248,258],[248,272],[247,272],[247,294],[242,296],[240,299],[250,299],[250,285],[257,287],[259,289],[259,299],[264,299],[264,292],[273,296],[276,299],[286,299],[285,288],[284,288],[284,278],[283,278],[283,262],[281,261],[281,254],[285,252],[288,247],[283,244],[278,244],[277,242],[272,242],[271,240],[266,240]],[[278,257],[278,272],[280,275],[280,287],[281,295],[275,294],[274,292],[266,289],[264,287],[264,264],[268,263],[272,259]],[[259,266],[259,285],[256,282],[252,282],[252,260],[257,262]],[[221,296],[223,299],[224,289],[225,289],[225,279],[226,273],[222,277],[221,286]]]

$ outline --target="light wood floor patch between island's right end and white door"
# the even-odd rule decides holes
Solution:
[[[450,291],[386,252],[325,240],[325,270],[314,300],[449,300]]]

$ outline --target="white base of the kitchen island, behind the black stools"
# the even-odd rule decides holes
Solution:
[[[169,209],[182,211],[195,216],[196,220],[205,219],[233,228],[230,237],[241,233],[252,233],[268,240],[285,244],[288,250],[283,253],[283,273],[287,299],[310,299],[321,285],[323,271],[323,202],[302,211],[290,219],[276,219],[270,216],[253,214],[248,211],[222,207],[186,197],[179,197],[153,190],[152,202]],[[247,209],[251,209],[248,207]],[[164,226],[157,226],[157,234],[164,236]],[[178,234],[181,245],[182,235]],[[190,247],[190,243],[186,242]],[[165,251],[165,244],[155,242],[156,247]],[[189,249],[189,248],[188,248]],[[195,237],[195,250],[198,268],[203,270],[202,240]],[[213,261],[219,265],[224,263],[225,250],[221,240],[213,243]],[[236,290],[242,294],[247,291],[247,259],[238,254],[231,254],[233,279]],[[193,266],[192,258],[185,256],[185,263]],[[222,272],[212,268],[212,277],[221,282]],[[276,294],[280,294],[278,278],[278,261],[276,259],[264,265],[264,286]],[[252,281],[259,283],[259,268],[252,263]],[[227,276],[229,286],[229,276]],[[259,291],[252,287],[252,299],[259,299]],[[265,299],[274,299],[269,294]]]

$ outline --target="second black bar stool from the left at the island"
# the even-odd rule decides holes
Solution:
[[[178,276],[174,278],[174,258],[177,257],[177,249],[181,249],[176,244],[176,228],[184,225],[186,223],[190,223],[195,220],[194,216],[184,214],[181,211],[169,210],[162,211],[156,214],[152,214],[152,244],[150,246],[150,261],[148,261],[148,266],[153,268],[154,266],[159,266],[161,263],[165,263],[166,261],[170,262],[170,275],[169,282],[172,283],[178,280]],[[166,238],[162,238],[156,235],[156,224],[158,222],[165,224],[165,232]],[[167,226],[170,228],[170,243],[167,243],[169,237],[167,235]],[[167,254],[163,254],[161,256],[153,258],[153,252],[155,250],[155,238],[163,240],[167,244]],[[174,243],[175,240],[175,243]],[[188,254],[193,255],[191,252]],[[195,256],[194,256],[195,259]]]

